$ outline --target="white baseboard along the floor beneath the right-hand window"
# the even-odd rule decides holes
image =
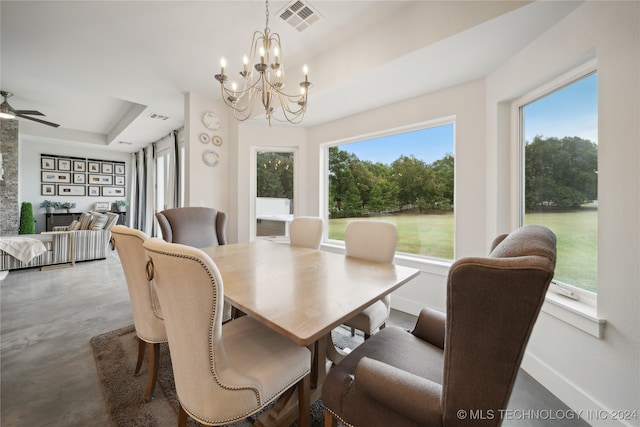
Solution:
[[[633,424],[614,420],[615,411],[612,408],[607,408],[593,399],[536,356],[525,353],[521,367],[589,425],[594,427],[633,426]]]

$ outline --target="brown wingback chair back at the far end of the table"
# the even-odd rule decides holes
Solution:
[[[162,238],[169,243],[205,248],[226,245],[227,214],[213,208],[165,209],[156,214]]]

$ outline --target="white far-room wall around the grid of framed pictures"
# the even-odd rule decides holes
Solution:
[[[124,198],[129,199],[129,184],[131,180],[131,154],[106,151],[103,149],[82,148],[68,144],[60,144],[53,141],[40,142],[29,136],[20,135],[20,202],[33,204],[33,216],[36,220],[36,233],[45,231],[45,212],[40,209],[40,202],[51,200],[54,202],[76,203],[73,212],[83,212],[93,209],[95,202],[115,201],[123,197],[80,197],[80,196],[42,196],[40,195],[40,155],[53,154],[57,156],[86,157],[90,159],[112,160],[126,163],[127,193]],[[88,145],[87,145],[88,147]],[[61,212],[61,211],[60,211]]]

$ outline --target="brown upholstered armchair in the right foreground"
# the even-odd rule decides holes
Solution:
[[[553,232],[529,225],[454,262],[446,314],[425,308],[413,332],[387,327],[331,369],[325,426],[500,425],[555,261]]]

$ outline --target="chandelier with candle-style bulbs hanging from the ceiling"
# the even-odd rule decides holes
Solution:
[[[220,93],[224,102],[233,110],[240,121],[251,118],[258,99],[264,108],[265,118],[289,123],[300,123],[307,109],[307,92],[311,87],[308,69],[303,68],[304,81],[300,82],[298,94],[285,93],[284,55],[280,35],[269,31],[269,1],[266,6],[264,32],[253,33],[249,57],[243,58],[242,81],[240,86],[224,73],[226,61],[220,61],[220,74],[215,78],[220,82]],[[251,58],[250,66],[249,59]]]

